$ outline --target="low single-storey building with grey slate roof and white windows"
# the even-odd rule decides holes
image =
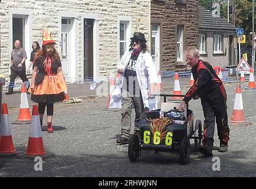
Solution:
[[[199,6],[199,53],[213,67],[238,64],[236,27],[215,12]]]

